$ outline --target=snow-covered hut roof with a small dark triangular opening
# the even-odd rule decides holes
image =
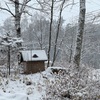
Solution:
[[[44,50],[20,51],[24,61],[46,61],[47,55]]]

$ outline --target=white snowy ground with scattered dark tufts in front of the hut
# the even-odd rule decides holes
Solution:
[[[93,79],[100,79],[100,70],[93,70],[91,73]],[[0,100],[42,100],[45,96],[45,84],[49,84],[52,79],[48,70],[37,74],[0,78]]]

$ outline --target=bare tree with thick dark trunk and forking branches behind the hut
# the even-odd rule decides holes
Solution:
[[[16,34],[17,34],[18,38],[21,37],[21,27],[20,27],[21,16],[22,16],[22,13],[26,13],[25,8],[26,8],[26,5],[28,4],[28,2],[30,2],[30,1],[31,0],[23,0],[23,2],[20,3],[19,0],[9,0],[9,3],[14,4],[15,13],[13,13],[13,11],[11,11],[7,2],[5,2],[7,8],[0,7],[1,10],[5,10],[5,11],[9,12],[14,17],[15,29],[16,29]],[[20,47],[20,46],[21,46],[21,43],[18,43],[18,47]]]

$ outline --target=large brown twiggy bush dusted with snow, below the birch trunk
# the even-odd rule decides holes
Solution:
[[[54,80],[46,84],[44,100],[99,100],[100,81],[90,77],[92,70],[68,67],[65,74],[54,74]]]

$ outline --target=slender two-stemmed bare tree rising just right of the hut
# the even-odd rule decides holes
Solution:
[[[60,6],[60,10],[59,10],[59,18],[58,18],[58,23],[57,23],[57,31],[56,31],[56,37],[55,37],[55,42],[54,42],[54,54],[53,54],[53,63],[52,66],[56,60],[56,55],[57,55],[57,43],[58,43],[58,38],[59,38],[59,31],[60,31],[60,26],[61,26],[61,18],[62,18],[62,11],[65,7],[72,5],[72,3],[68,3],[69,0],[37,0],[38,3],[40,4],[41,10],[42,12],[45,11],[45,13],[49,13],[50,14],[50,30],[49,30],[49,46],[48,46],[48,67],[49,67],[49,61],[51,59],[51,45],[52,45],[52,41],[53,41],[53,19],[54,19],[54,14],[55,11],[59,10],[59,6]],[[64,5],[66,2],[67,5]]]

